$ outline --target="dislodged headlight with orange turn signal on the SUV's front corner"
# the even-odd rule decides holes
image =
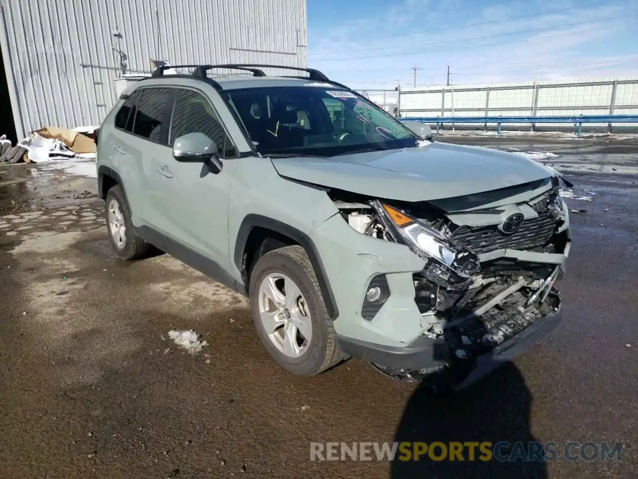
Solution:
[[[468,278],[480,270],[476,255],[466,248],[452,243],[440,232],[389,204],[378,201],[375,203],[386,226],[396,233],[394,236],[397,237],[397,241],[407,245],[423,259],[438,263],[428,265],[430,270],[432,266],[439,266],[439,270],[440,266],[445,266],[463,278]]]

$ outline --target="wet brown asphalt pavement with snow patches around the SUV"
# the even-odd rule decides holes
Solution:
[[[95,179],[0,165],[0,476],[637,477],[638,141],[438,139],[553,153],[542,161],[574,183],[575,211],[563,321],[445,398],[359,360],[291,376],[244,298],[167,255],[116,259]],[[168,338],[189,329],[207,342],[196,354]],[[310,460],[311,443],[341,441],[622,449],[597,461]]]

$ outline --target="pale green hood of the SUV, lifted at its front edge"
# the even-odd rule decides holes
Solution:
[[[286,178],[398,201],[470,195],[556,174],[516,153],[440,142],[420,148],[271,161]]]

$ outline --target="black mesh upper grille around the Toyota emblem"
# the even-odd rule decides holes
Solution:
[[[533,250],[543,247],[551,238],[556,218],[549,211],[537,218],[526,219],[521,228],[513,234],[504,234],[496,225],[469,227],[460,226],[452,233],[452,239],[477,254],[508,248],[512,250]]]

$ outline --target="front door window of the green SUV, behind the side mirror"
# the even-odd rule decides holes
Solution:
[[[228,158],[237,156],[235,146],[221,121],[212,108],[211,103],[197,91],[180,89],[170,121],[168,146],[173,146],[175,139],[188,133],[201,132],[217,144],[219,156]]]

